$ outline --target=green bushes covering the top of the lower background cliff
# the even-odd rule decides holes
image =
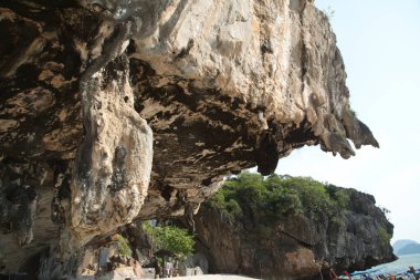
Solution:
[[[207,203],[219,209],[228,221],[246,217],[272,222],[281,216],[304,214],[317,218],[327,215],[340,224],[349,207],[354,189],[329,186],[309,177],[291,177],[244,172],[225,180]]]

